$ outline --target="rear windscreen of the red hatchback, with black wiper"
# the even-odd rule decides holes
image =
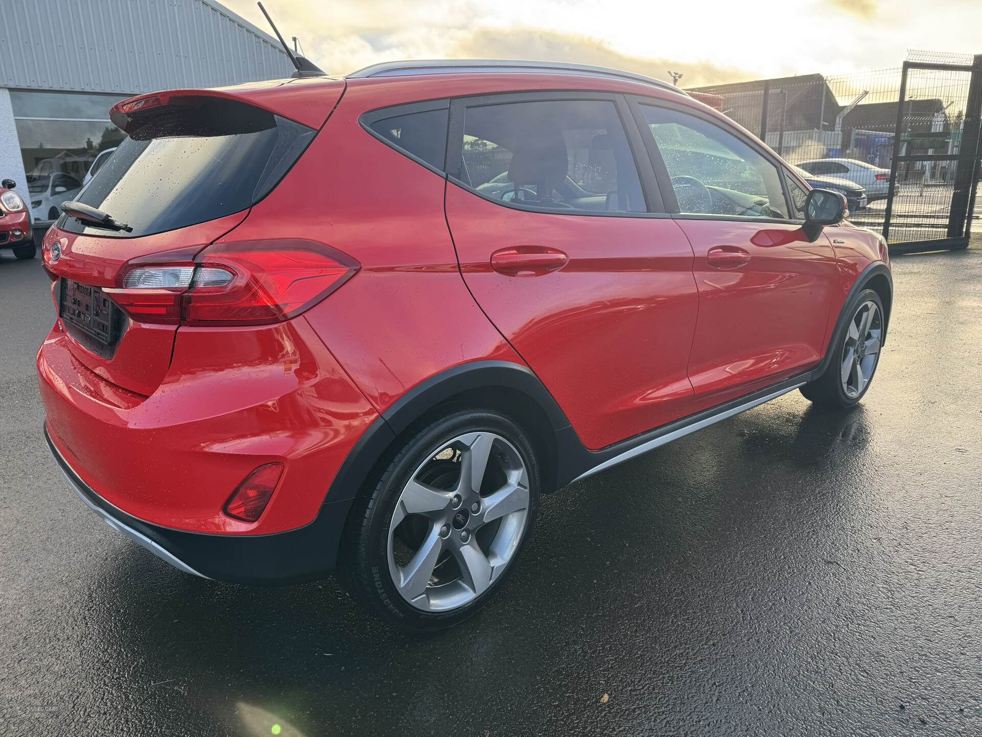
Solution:
[[[76,198],[130,232],[63,215],[58,227],[136,238],[240,212],[277,185],[316,131],[242,102],[166,106],[131,131]]]

